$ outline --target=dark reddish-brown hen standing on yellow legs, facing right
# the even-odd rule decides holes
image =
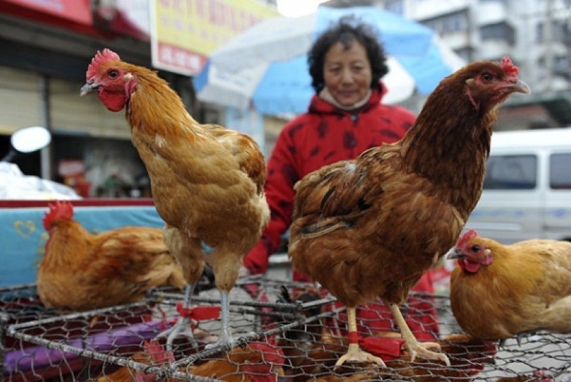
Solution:
[[[528,93],[510,58],[472,63],[444,78],[395,144],[316,170],[296,185],[289,254],[298,271],[347,306],[345,361],[382,359],[361,350],[356,307],[389,305],[414,359],[448,358],[419,343],[398,304],[462,232],[482,192],[499,105]]]

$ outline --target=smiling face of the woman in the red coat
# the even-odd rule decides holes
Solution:
[[[349,49],[345,49],[343,43],[335,43],[325,54],[325,86],[342,106],[351,106],[363,100],[371,87],[372,78],[367,51],[358,41],[352,41]]]

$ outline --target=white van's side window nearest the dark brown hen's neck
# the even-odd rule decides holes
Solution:
[[[486,167],[485,190],[532,190],[537,183],[535,155],[491,155]]]

